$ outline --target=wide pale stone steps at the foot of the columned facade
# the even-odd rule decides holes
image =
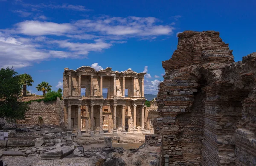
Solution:
[[[142,133],[125,133],[125,134],[111,134],[105,133],[102,135],[89,135],[83,134],[76,137],[74,140],[79,145],[89,145],[89,144],[101,144],[104,143],[104,137],[111,137],[113,143],[134,143],[134,142],[145,142],[145,135]],[[119,138],[118,138],[119,137]]]

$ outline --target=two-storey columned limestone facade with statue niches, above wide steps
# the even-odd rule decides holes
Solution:
[[[148,132],[144,128],[144,75],[131,69],[64,69],[64,118],[73,133]],[[81,96],[81,89],[85,95]],[[107,98],[103,98],[103,89]],[[127,96],[125,96],[127,90]],[[82,120],[81,120],[82,119]],[[150,131],[149,131],[150,133]]]

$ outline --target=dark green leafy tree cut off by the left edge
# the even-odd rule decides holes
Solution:
[[[20,76],[13,68],[0,69],[0,117],[25,118],[29,107],[19,99],[21,85]]]

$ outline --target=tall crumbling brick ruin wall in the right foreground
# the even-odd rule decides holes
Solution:
[[[256,53],[234,62],[215,31],[178,37],[157,95],[160,165],[255,166]]]

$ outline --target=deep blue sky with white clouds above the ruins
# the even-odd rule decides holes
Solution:
[[[42,81],[61,87],[64,68],[131,68],[148,72],[145,93],[157,94],[179,32],[219,31],[235,61],[256,51],[255,8],[254,0],[0,0],[0,67],[30,74],[37,94]]]

